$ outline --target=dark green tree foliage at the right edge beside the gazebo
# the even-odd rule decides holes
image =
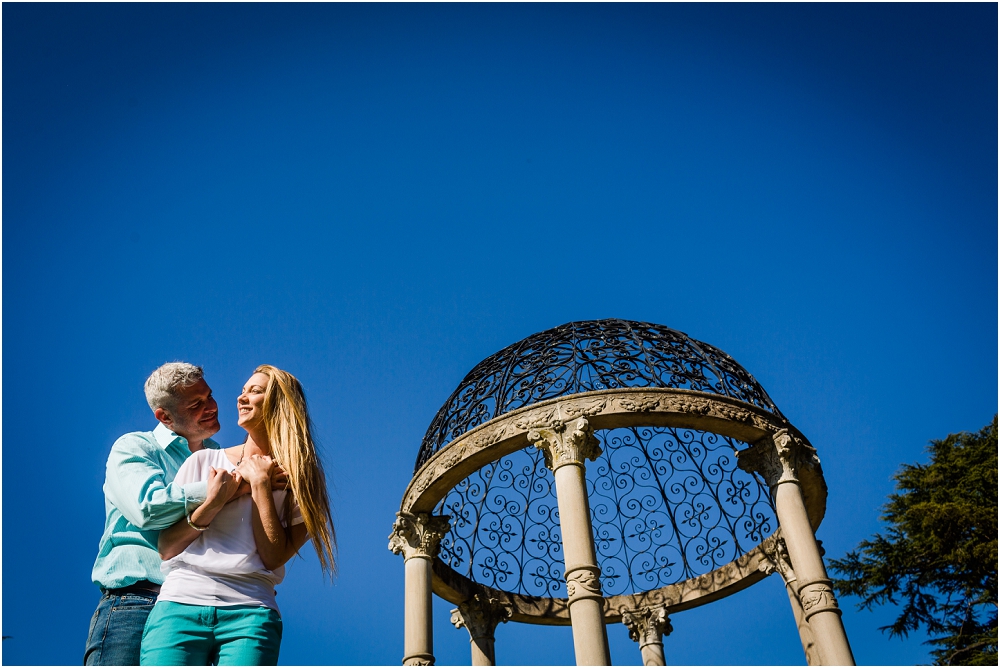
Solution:
[[[997,417],[979,433],[931,441],[930,463],[904,464],[883,507],[885,535],[831,561],[858,607],[902,610],[882,627],[925,627],[936,665],[997,665]]]

